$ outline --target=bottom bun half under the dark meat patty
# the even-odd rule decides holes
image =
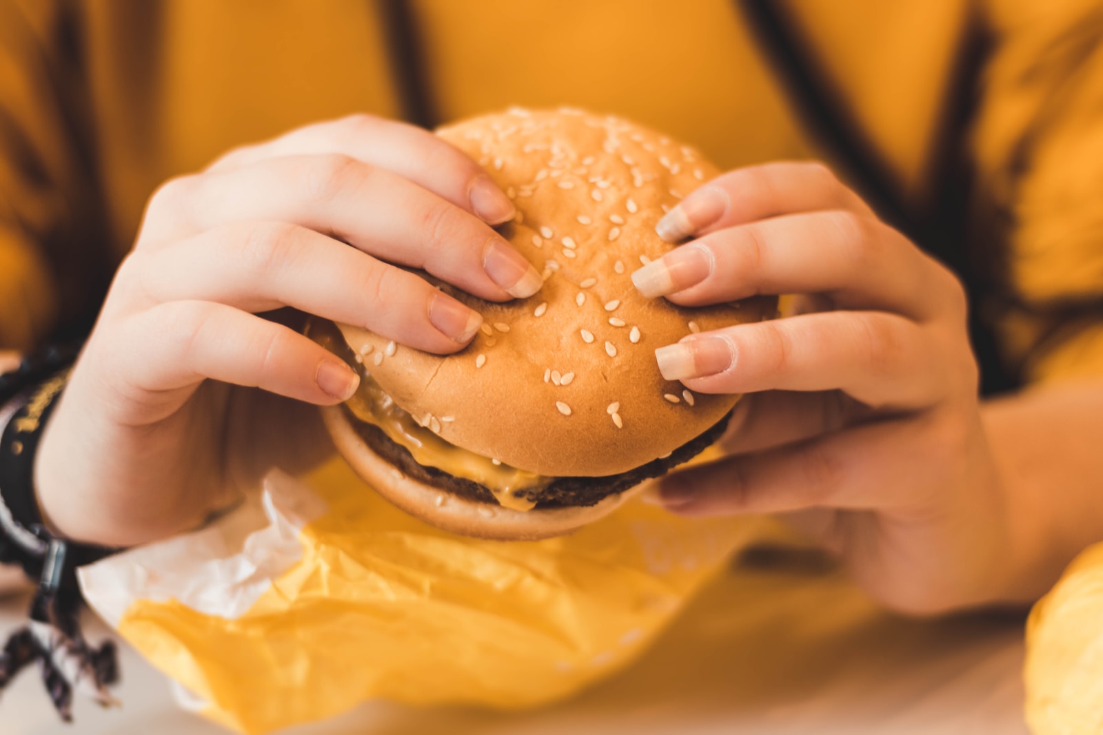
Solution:
[[[570,533],[615,510],[643,485],[592,506],[512,510],[476,502],[418,482],[368,448],[340,406],[322,409],[325,428],[345,462],[379,495],[430,526],[482,539],[536,541]]]

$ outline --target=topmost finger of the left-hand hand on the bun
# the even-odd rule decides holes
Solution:
[[[324,153],[340,153],[392,171],[491,225],[512,219],[516,213],[486,172],[458,148],[417,126],[374,115],[319,122],[274,140],[238,148],[207,171]]]

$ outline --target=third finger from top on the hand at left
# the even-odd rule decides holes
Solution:
[[[414,273],[287,223],[234,223],[131,256],[161,302],[282,306],[355,324],[431,353],[467,345],[482,316]],[[129,264],[129,263],[128,263]]]

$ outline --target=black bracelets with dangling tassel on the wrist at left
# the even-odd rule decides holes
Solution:
[[[0,692],[38,661],[54,706],[72,720],[74,690],[101,705],[115,703],[107,685],[118,678],[115,645],[94,648],[81,633],[76,568],[114,552],[53,537],[34,493],[34,457],[50,413],[68,379],[78,346],[52,347],[0,376],[0,562],[19,563],[39,587],[31,625],[0,650]]]

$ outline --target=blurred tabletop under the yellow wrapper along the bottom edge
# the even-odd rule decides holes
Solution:
[[[805,560],[807,561],[807,560]],[[25,597],[0,598],[0,633]],[[522,714],[370,702],[286,735],[679,733],[1024,735],[1022,615],[936,621],[878,610],[816,564],[732,565],[634,666],[566,703]],[[98,620],[89,637],[107,635]],[[36,672],[0,700],[4,735],[216,735],[176,707],[165,678],[126,645],[124,706],[79,702],[61,724]]]

